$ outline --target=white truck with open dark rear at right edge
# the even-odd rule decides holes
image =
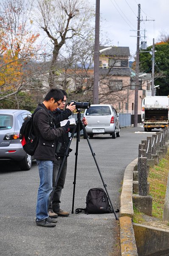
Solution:
[[[144,123],[144,131],[168,127],[169,97],[146,96],[142,101],[141,119]]]

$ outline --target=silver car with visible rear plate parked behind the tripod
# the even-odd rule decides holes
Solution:
[[[110,134],[113,139],[120,137],[118,114],[111,105],[91,105],[85,109],[84,116],[88,121],[85,128],[90,138],[93,138],[93,134]]]

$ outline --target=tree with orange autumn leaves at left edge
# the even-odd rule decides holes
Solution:
[[[0,6],[0,100],[14,100],[30,86],[33,71],[28,63],[36,58],[39,37],[30,30],[30,8],[22,0],[6,0]]]

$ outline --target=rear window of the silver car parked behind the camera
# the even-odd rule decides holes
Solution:
[[[108,116],[111,115],[109,106],[91,106],[86,111],[87,116]]]

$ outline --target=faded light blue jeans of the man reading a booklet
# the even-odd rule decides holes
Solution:
[[[37,194],[37,221],[48,218],[48,199],[52,192],[53,161],[37,160],[40,184]]]

